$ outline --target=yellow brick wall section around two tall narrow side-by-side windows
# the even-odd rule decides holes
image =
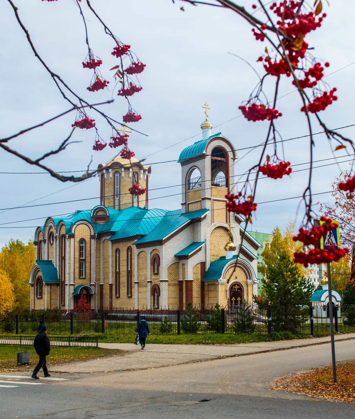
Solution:
[[[132,246],[132,243],[135,240],[125,241],[122,243],[112,243],[112,275],[115,272],[115,261],[114,255],[116,253],[116,249],[119,249],[120,254],[120,264],[119,264],[119,272],[120,272],[120,297],[114,297],[114,285],[112,290],[112,307],[115,308],[134,308],[135,307],[135,246]],[[132,297],[127,297],[127,247],[131,246],[132,248]],[[105,250],[104,250],[105,252]],[[107,293],[109,291],[107,290]],[[104,303],[105,307],[105,303]]]

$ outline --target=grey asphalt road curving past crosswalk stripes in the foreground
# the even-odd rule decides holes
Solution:
[[[336,357],[355,359],[355,341],[337,342]],[[277,378],[330,362],[330,345],[322,344],[141,371],[55,375],[67,380],[38,385],[0,377],[0,418],[354,418],[353,403],[272,390]]]

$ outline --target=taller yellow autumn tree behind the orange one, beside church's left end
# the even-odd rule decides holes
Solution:
[[[34,247],[31,240],[24,244],[20,240],[11,239],[1,249],[0,266],[13,286],[13,308],[18,311],[29,308],[30,289],[27,283],[33,264]]]

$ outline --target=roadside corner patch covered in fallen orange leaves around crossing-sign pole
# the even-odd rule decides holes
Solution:
[[[276,382],[277,383],[277,382]],[[323,397],[355,402],[355,362],[337,364],[337,383],[333,383],[332,367],[312,368],[282,380],[274,390],[305,393],[310,397]]]

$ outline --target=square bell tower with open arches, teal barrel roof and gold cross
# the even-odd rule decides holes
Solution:
[[[211,223],[227,222],[225,195],[234,190],[234,161],[238,158],[233,144],[220,132],[212,135],[212,124],[201,124],[202,140],[181,151],[181,207],[182,212],[210,209]]]

